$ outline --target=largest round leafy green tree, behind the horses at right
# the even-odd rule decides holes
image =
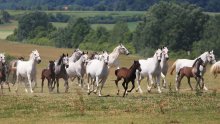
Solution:
[[[188,51],[201,39],[207,20],[208,16],[195,5],[160,2],[146,13],[133,42],[138,50],[166,45],[172,50]]]

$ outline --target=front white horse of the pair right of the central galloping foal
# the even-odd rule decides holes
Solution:
[[[148,92],[151,91],[151,87],[154,84],[153,82],[153,78],[154,78],[157,83],[158,92],[161,93],[161,89],[160,89],[161,56],[162,56],[162,51],[161,49],[158,49],[156,50],[153,57],[148,58],[147,60],[139,60],[142,71],[141,72],[138,70],[136,71],[136,79],[137,79],[137,84],[138,84],[138,88],[136,89],[136,91],[139,90],[140,93],[143,92],[141,90],[140,82],[141,80],[143,80],[144,77],[147,77]]]

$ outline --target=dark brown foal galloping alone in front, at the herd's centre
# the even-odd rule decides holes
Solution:
[[[117,95],[119,95],[119,87],[118,87],[118,81],[120,81],[122,78],[124,79],[124,82],[122,83],[122,86],[124,87],[125,91],[123,94],[123,97],[125,96],[125,94],[127,92],[131,92],[134,89],[134,82],[135,82],[135,78],[136,78],[136,70],[141,71],[140,68],[140,63],[138,61],[134,61],[133,65],[128,69],[125,67],[122,67],[120,69],[115,70],[115,75],[117,76],[117,79],[115,80],[115,84],[118,88],[118,93]],[[132,88],[127,91],[128,89],[128,83],[132,82]]]

